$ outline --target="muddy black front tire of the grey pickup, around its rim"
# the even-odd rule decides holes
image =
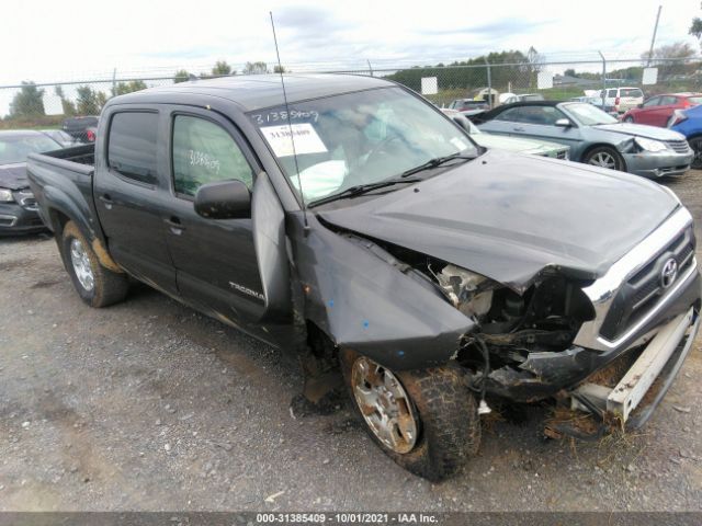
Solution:
[[[415,420],[416,434],[414,441],[403,442],[403,447],[393,447],[381,438],[369,423],[369,419],[375,415],[366,416],[369,405],[364,407],[364,414],[354,388],[354,370],[360,361],[378,367],[384,375],[389,373],[408,397],[407,413]],[[341,353],[341,366],[351,399],[366,424],[366,432],[403,468],[437,482],[456,474],[477,454],[480,444],[477,405],[456,369],[434,367],[393,374],[351,351]],[[383,384],[387,385],[387,376],[384,376]]]

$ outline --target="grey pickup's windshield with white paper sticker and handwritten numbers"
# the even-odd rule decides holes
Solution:
[[[369,90],[249,114],[306,203],[396,178],[431,159],[477,149],[450,119],[399,88]],[[297,155],[295,165],[294,151]]]

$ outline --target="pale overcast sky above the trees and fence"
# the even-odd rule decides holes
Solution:
[[[553,59],[638,57],[688,41],[699,0],[2,0],[0,84],[195,73],[217,59],[272,64],[269,11],[287,66],[434,64],[534,46]]]

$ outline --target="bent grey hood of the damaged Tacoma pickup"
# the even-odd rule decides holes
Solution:
[[[602,276],[680,204],[625,173],[490,150],[411,187],[327,206],[318,216],[329,225],[521,293],[545,267]]]

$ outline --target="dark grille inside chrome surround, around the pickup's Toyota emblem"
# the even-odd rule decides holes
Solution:
[[[661,272],[670,259],[675,259],[678,264],[677,281],[694,261],[694,237],[691,228],[659,251],[622,285],[600,328],[602,336],[608,340],[616,339],[658,302],[668,289],[663,285]]]

